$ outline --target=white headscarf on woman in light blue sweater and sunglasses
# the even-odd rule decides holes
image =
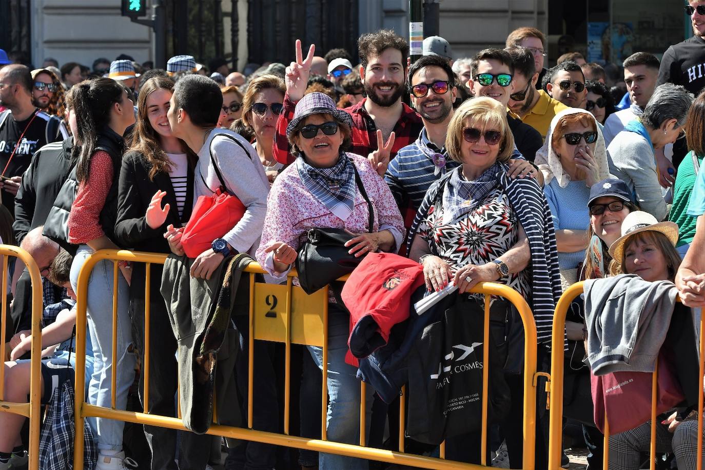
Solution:
[[[591,120],[595,123],[595,128],[597,130],[597,142],[595,144],[593,156],[599,168],[599,177],[597,180],[600,181],[610,177],[610,169],[607,163],[607,149],[605,148],[605,138],[602,137],[602,131],[600,130],[600,126],[597,124],[595,117],[584,109],[568,108],[560,111],[560,113],[556,114],[556,116],[553,116],[553,119],[551,120],[551,127],[548,128],[548,133],[546,134],[544,146],[536,152],[536,159],[534,159],[534,163],[536,163],[539,167],[541,173],[544,173],[544,184],[546,185],[551,183],[553,178],[558,180],[558,185],[560,187],[566,187],[570,182],[570,175],[565,173],[563,170],[563,164],[560,163],[560,157],[553,149],[551,140],[553,137],[553,130],[556,128],[556,125],[558,125],[558,121],[563,118],[563,116],[577,113],[587,114],[587,116],[590,116]],[[587,185],[587,183],[585,184]]]

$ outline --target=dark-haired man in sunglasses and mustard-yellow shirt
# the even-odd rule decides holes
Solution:
[[[538,130],[541,139],[546,140],[546,133],[553,116],[567,109],[568,106],[549,97],[544,90],[534,88],[539,74],[536,73],[534,56],[529,49],[513,46],[504,50],[509,53],[514,64],[515,92],[509,97],[509,109],[522,120],[522,123]]]

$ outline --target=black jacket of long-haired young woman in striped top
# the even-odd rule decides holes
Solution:
[[[116,244],[125,249],[140,252],[171,253],[164,238],[166,227],[172,224],[180,227],[188,222],[193,205],[193,166],[188,166],[188,190],[183,206],[183,216],[179,218],[176,197],[168,173],[160,171],[149,179],[152,164],[140,153],[130,151],[123,157],[118,182],[117,219],[115,223]],[[149,202],[158,191],[166,191],[162,205],[169,204],[169,214],[164,225],[156,230],[149,228],[145,213]],[[140,298],[145,295],[145,264],[137,263],[134,267],[130,292]],[[161,265],[152,264],[152,289],[159,290],[161,283]]]

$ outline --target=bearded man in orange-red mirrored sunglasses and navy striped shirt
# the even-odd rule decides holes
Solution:
[[[424,128],[415,142],[399,149],[384,175],[407,228],[429,187],[460,164],[446,154],[446,132],[458,93],[453,80],[453,70],[441,56],[423,56],[409,69],[411,103],[421,113]],[[510,163],[511,177],[538,173],[527,161]]]

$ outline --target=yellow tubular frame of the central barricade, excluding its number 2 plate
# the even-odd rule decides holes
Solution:
[[[166,254],[157,253],[147,253],[147,252],[131,252],[128,250],[115,250],[115,249],[103,249],[94,252],[90,255],[85,264],[82,266],[78,277],[78,288],[76,290],[76,295],[78,296],[78,309],[76,312],[76,367],[75,367],[75,388],[76,390],[85,389],[85,331],[86,331],[86,311],[87,311],[87,282],[90,278],[93,267],[99,261],[109,260],[114,261],[114,280],[117,280],[118,276],[118,265],[117,261],[131,261],[134,263],[146,263],[146,273],[147,278],[145,280],[145,357],[149,357],[149,276],[150,269],[149,264],[164,264],[167,259]],[[253,348],[255,342],[254,328],[255,328],[255,315],[254,315],[254,296],[255,296],[255,274],[264,273],[264,270],[257,264],[252,263],[245,269],[245,272],[250,273],[250,341],[249,341],[249,364],[248,364],[248,406],[247,406],[247,428],[232,427],[232,426],[221,426],[212,424],[207,431],[207,434],[220,435],[226,438],[236,438],[243,440],[256,441],[260,443],[281,445],[283,447],[295,447],[298,449],[314,450],[318,452],[334,453],[345,455],[348,457],[357,457],[362,459],[372,459],[381,462],[388,462],[400,465],[416,466],[421,468],[443,468],[443,469],[482,469],[487,468],[486,464],[486,453],[482,452],[482,465],[475,464],[465,464],[462,462],[454,462],[446,460],[445,457],[445,446],[444,443],[441,444],[441,459],[434,457],[424,457],[415,454],[405,454],[404,450],[404,429],[405,429],[405,390],[402,392],[400,400],[400,426],[399,426],[399,437],[400,437],[400,449],[399,451],[391,451],[384,449],[377,449],[374,447],[365,446],[365,400],[364,390],[366,384],[364,382],[360,383],[361,400],[360,400],[360,445],[343,444],[336,443],[326,440],[326,412],[327,412],[327,397],[328,389],[326,384],[326,368],[323,369],[323,397],[321,402],[321,439],[311,439],[311,438],[300,438],[298,436],[288,435],[289,431],[289,411],[290,411],[290,345],[291,345],[291,307],[292,307],[292,278],[296,276],[295,270],[292,270],[287,278],[286,289],[286,358],[285,358],[285,404],[284,404],[284,432],[285,434],[269,433],[265,431],[255,431],[252,429],[252,417],[253,417],[253,407],[252,407],[252,387],[253,387]],[[341,278],[344,280],[344,278]],[[242,281],[241,281],[242,282]],[[114,282],[117,285],[117,282]],[[274,285],[273,285],[274,286]],[[298,288],[298,287],[297,287]],[[327,292],[327,288],[326,288]],[[523,447],[523,460],[524,462],[530,462],[529,467],[533,465],[534,462],[534,452],[535,452],[535,426],[536,426],[536,383],[537,377],[539,375],[548,375],[546,373],[537,373],[537,351],[533,345],[537,344],[537,328],[534,323],[534,316],[532,314],[529,305],[527,304],[524,297],[522,297],[518,292],[511,289],[510,287],[497,283],[479,283],[472,292],[483,293],[486,300],[489,299],[489,295],[496,295],[508,299],[519,311],[522,317],[522,323],[524,325],[525,332],[525,358],[524,358],[524,447]],[[328,326],[328,296],[325,296],[326,302],[322,307],[323,315],[323,334],[324,334],[324,345],[327,344],[327,326]],[[115,347],[116,347],[116,314],[117,314],[117,295],[114,291],[114,302],[113,302],[113,357],[116,357]],[[489,302],[485,302],[485,322],[484,322],[484,356],[483,360],[489,355]],[[83,354],[81,354],[81,352]],[[327,347],[323,348],[323,362],[327,364]],[[142,366],[145,368],[145,404],[149,400],[149,391],[147,390],[149,384],[149,360],[145,359]],[[116,380],[116,367],[112,368],[112,381],[113,384]],[[487,365],[485,364],[483,368],[483,400],[482,400],[482,416],[485,426],[482,426],[482,449],[486,448],[487,443],[487,426],[486,426],[486,416],[487,416],[487,400],[488,400],[488,385],[489,385],[489,375],[487,373]],[[84,428],[84,418],[88,416],[95,416],[105,419],[117,419],[119,421],[128,421],[132,423],[146,424],[149,426],[161,426],[164,428],[178,429],[181,431],[188,431],[183,423],[178,418],[167,417],[167,416],[157,416],[154,414],[147,414],[147,409],[145,412],[127,412],[123,410],[114,409],[115,408],[115,386],[113,385],[112,390],[112,408],[97,407],[85,402],[84,393],[75,394],[75,445],[74,445],[74,468],[76,470],[83,469],[83,428]]]

